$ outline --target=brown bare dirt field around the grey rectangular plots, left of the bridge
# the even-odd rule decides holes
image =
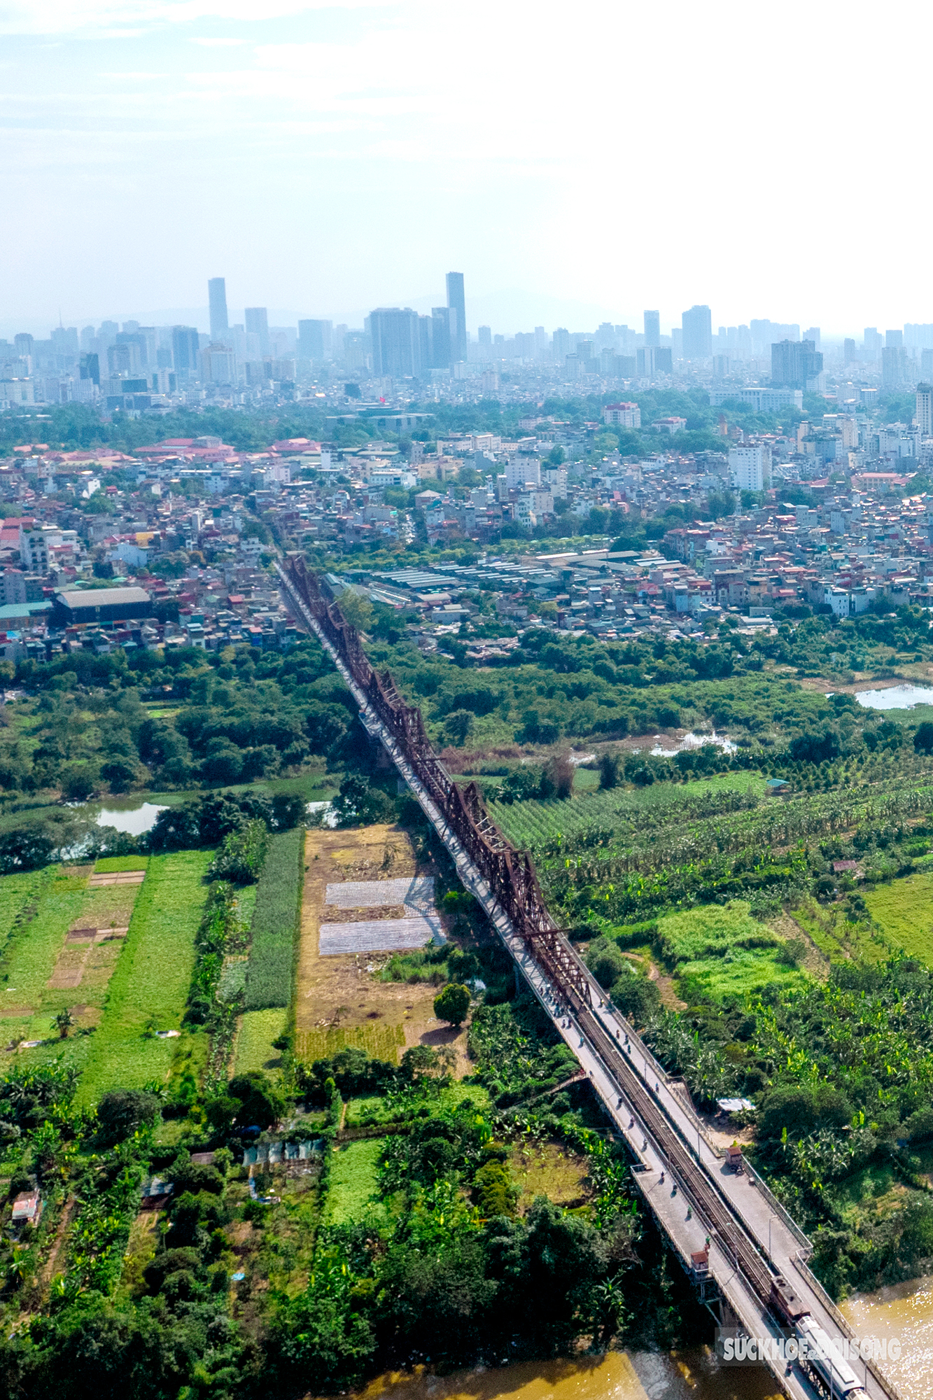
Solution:
[[[326,886],[339,881],[396,879],[433,875],[419,865],[408,834],[396,826],[363,826],[346,832],[311,830],[304,847],[304,903],[298,958],[296,1047],[303,1058],[333,1053],[342,1044],[359,1044],[381,1057],[396,1056],[405,1046],[452,1044],[458,1074],[465,1072],[465,1030],[454,1032],[434,1018],[437,988],[426,984],[377,981],[373,973],[385,962],[380,953],[345,953],[322,958],[318,930],[335,917],[325,906]],[[388,911],[388,910],[387,910]],[[374,910],[366,911],[373,917]],[[395,910],[392,910],[395,913]]]

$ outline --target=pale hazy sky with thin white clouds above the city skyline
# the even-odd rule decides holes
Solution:
[[[256,15],[262,11],[262,18]],[[0,0],[0,326],[933,322],[919,4]]]

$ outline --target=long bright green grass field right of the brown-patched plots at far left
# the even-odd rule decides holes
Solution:
[[[146,1032],[150,1023],[158,1030],[181,1026],[209,860],[209,851],[150,858],[78,1089],[81,1103],[97,1102],[108,1089],[139,1089],[168,1075],[177,1040]]]

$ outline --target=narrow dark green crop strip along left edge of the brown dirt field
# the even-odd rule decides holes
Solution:
[[[303,843],[301,827],[269,840],[266,862],[256,882],[247,967],[247,1011],[287,1007],[291,1001]]]

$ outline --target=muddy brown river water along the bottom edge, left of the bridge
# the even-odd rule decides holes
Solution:
[[[530,1361],[495,1371],[377,1376],[354,1400],[770,1400],[763,1366],[721,1369],[706,1348],[611,1351],[572,1361]]]

